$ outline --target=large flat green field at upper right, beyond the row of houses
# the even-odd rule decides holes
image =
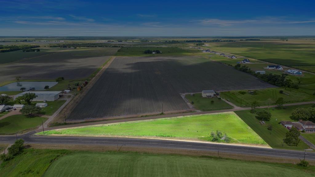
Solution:
[[[209,43],[209,48],[315,72],[315,43],[308,42],[237,41],[220,43],[220,47],[219,43]]]

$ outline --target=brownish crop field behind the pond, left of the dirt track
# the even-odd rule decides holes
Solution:
[[[0,65],[0,83],[22,79],[79,79],[89,77],[106,62],[118,48],[66,49],[49,55]],[[11,52],[6,52],[5,54]],[[30,52],[26,52],[30,53]],[[12,52],[12,54],[14,54]],[[8,55],[10,56],[10,55]]]

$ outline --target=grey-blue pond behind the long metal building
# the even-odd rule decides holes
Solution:
[[[32,90],[44,90],[45,86],[49,88],[56,85],[58,82],[14,82],[0,87],[0,91],[20,91],[20,88],[26,88],[25,91],[34,88]]]

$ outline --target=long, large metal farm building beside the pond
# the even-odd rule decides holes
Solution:
[[[61,91],[27,91],[14,96],[14,99],[18,96],[24,95],[26,93],[34,93],[37,95],[33,101],[54,101],[57,100],[60,96]]]

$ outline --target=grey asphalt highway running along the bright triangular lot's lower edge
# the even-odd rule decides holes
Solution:
[[[172,140],[153,140],[140,138],[113,138],[113,137],[76,137],[76,136],[36,136],[30,132],[19,135],[28,144],[71,144],[71,145],[104,145],[104,146],[137,146],[137,147],[154,147],[169,149],[186,149],[197,151],[219,151],[236,154],[249,154],[261,156],[273,156],[284,158],[304,158],[304,151],[268,149],[246,146],[231,146],[209,143],[172,141]],[[15,136],[0,136],[0,143],[13,143]],[[314,152],[306,152],[306,159],[315,160]]]

